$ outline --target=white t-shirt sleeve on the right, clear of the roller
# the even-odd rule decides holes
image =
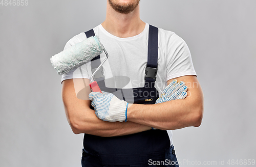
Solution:
[[[197,75],[185,41],[175,33],[167,43],[166,81],[185,75]]]

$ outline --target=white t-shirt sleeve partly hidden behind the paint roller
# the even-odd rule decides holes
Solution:
[[[79,38],[80,37],[80,38]],[[73,38],[71,38],[65,45],[63,50],[66,50],[70,48],[71,46],[75,45],[76,43],[81,42],[82,40],[86,39],[85,35],[79,34]],[[65,73],[61,77],[61,84],[63,80],[66,79],[73,79],[73,78],[89,78],[88,70],[87,70],[87,64],[83,64],[79,67],[74,67],[69,72]]]

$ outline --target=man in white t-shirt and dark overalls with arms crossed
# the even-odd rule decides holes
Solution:
[[[82,166],[178,166],[172,133],[168,136],[166,130],[201,124],[203,94],[185,42],[173,32],[143,22],[139,2],[108,0],[105,21],[93,29],[110,54],[103,66],[104,77],[129,77],[129,88],[138,95],[134,104],[106,93],[111,91],[105,89],[105,82],[103,94],[90,93],[93,61],[62,75],[69,124],[75,134],[85,133]],[[87,32],[73,37],[65,49],[89,36]],[[156,101],[158,92],[164,94]],[[177,96],[166,100],[165,94]]]

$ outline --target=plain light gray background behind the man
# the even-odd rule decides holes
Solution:
[[[83,135],[68,125],[61,77],[50,57],[74,35],[101,23],[105,5],[102,0],[0,5],[0,166],[80,166]],[[255,6],[254,0],[141,1],[143,21],[186,41],[204,91],[202,125],[174,131],[180,163],[190,161],[180,166],[256,159]]]

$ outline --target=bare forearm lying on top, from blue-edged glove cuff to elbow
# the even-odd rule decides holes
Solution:
[[[133,104],[127,111],[128,121],[163,130],[199,126],[200,119],[199,110],[186,107],[185,99],[152,105]]]

